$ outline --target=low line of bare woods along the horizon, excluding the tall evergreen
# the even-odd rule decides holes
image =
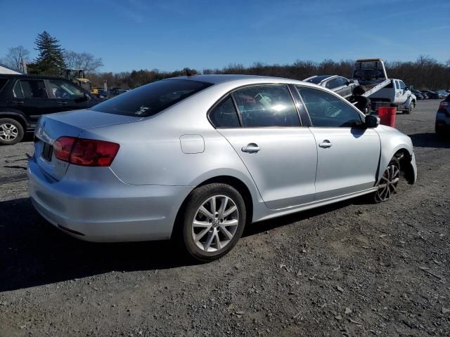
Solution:
[[[322,62],[297,60],[290,65],[268,65],[255,62],[249,67],[241,64],[231,64],[224,68],[190,70],[193,74],[248,74],[290,79],[306,79],[320,74],[337,74],[352,78],[354,60],[323,60]],[[414,62],[385,62],[387,76],[401,79],[406,85],[416,89],[449,89],[450,88],[450,60],[446,63],[438,62],[429,56],[420,55]],[[136,88],[160,79],[186,75],[185,70],[162,72],[153,70],[133,70],[131,72],[97,72],[89,75],[94,86]]]

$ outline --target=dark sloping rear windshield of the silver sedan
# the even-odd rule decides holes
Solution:
[[[148,117],[158,114],[158,112],[179,103],[208,86],[212,86],[212,84],[186,79],[157,81],[94,105],[91,110],[110,114]]]

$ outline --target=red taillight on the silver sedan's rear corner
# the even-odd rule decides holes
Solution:
[[[60,137],[53,144],[55,157],[80,166],[110,166],[119,144],[104,140]]]

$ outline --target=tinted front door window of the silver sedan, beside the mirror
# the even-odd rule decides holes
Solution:
[[[297,86],[312,126],[352,127],[362,124],[361,114],[341,98],[315,88]]]

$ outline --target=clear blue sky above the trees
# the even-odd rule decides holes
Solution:
[[[295,60],[450,59],[450,1],[0,0],[0,58],[47,30],[105,72]]]

